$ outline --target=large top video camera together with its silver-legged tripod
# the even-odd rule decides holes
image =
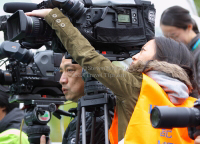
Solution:
[[[15,8],[13,5],[15,5]],[[30,9],[27,9],[27,7]],[[6,3],[4,4],[4,11],[14,12],[14,14],[9,18],[3,17],[7,19],[6,27],[1,28],[1,30],[7,31],[8,40],[19,40],[23,48],[37,49],[46,45],[54,52],[64,53],[66,52],[65,48],[44,19],[29,17],[24,14],[24,12],[34,9],[55,7],[59,8],[70,19],[74,27],[99,53],[106,51],[107,54],[104,56],[111,61],[129,58],[130,55],[139,52],[141,47],[154,37],[154,5],[150,1],[141,0],[121,2],[117,0],[47,0],[39,4]],[[109,97],[112,94],[95,78],[88,76],[87,72],[83,72],[83,74],[85,86],[88,89],[85,90],[86,96],[79,101],[78,116],[81,115],[80,109],[84,113],[86,107],[98,105],[98,107],[104,107],[105,120],[107,121]],[[91,87],[95,89],[91,89]],[[96,103],[91,105],[91,101],[94,102],[94,97]],[[79,122],[77,123],[78,129]],[[86,143],[84,121],[82,125],[82,141]],[[77,132],[79,131],[77,130]],[[105,132],[108,132],[107,124],[105,124]],[[108,134],[105,134],[106,144],[109,143],[107,136]],[[79,134],[77,133],[76,143],[78,143],[78,138]]]

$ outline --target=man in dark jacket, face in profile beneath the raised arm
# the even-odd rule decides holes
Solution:
[[[84,96],[84,81],[82,80],[82,67],[79,64],[72,64],[72,59],[68,57],[65,59],[65,56],[62,58],[60,64],[60,84],[62,85],[62,91],[67,100],[77,102],[79,98]],[[76,123],[77,117],[68,125],[64,136],[63,144],[74,144],[76,141]],[[91,136],[91,126],[92,126],[92,117],[89,112],[86,112],[86,140],[90,142]],[[104,118],[96,117],[95,125],[95,144],[103,144],[105,142],[105,132],[104,132]],[[80,134],[82,133],[82,126],[80,126]],[[82,139],[80,139],[80,144]]]

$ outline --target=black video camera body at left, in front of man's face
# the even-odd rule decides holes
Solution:
[[[0,45],[0,59],[6,57],[9,64],[6,71],[0,70],[0,84],[10,85],[11,96],[63,96],[59,84],[61,53],[46,50],[34,55],[30,50],[22,49],[19,43],[4,41]]]

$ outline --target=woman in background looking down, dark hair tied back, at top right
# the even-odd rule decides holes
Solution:
[[[173,6],[162,13],[160,27],[166,37],[183,42],[192,52],[195,77],[200,91],[200,34],[196,22],[188,10]]]

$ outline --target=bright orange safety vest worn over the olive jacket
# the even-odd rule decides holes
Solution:
[[[143,74],[140,96],[128,124],[124,144],[193,144],[187,128],[155,129],[150,122],[154,106],[192,107],[195,98],[189,97],[182,105],[173,105],[165,91],[150,77]],[[118,119],[115,112],[109,130],[111,144],[118,144]]]

